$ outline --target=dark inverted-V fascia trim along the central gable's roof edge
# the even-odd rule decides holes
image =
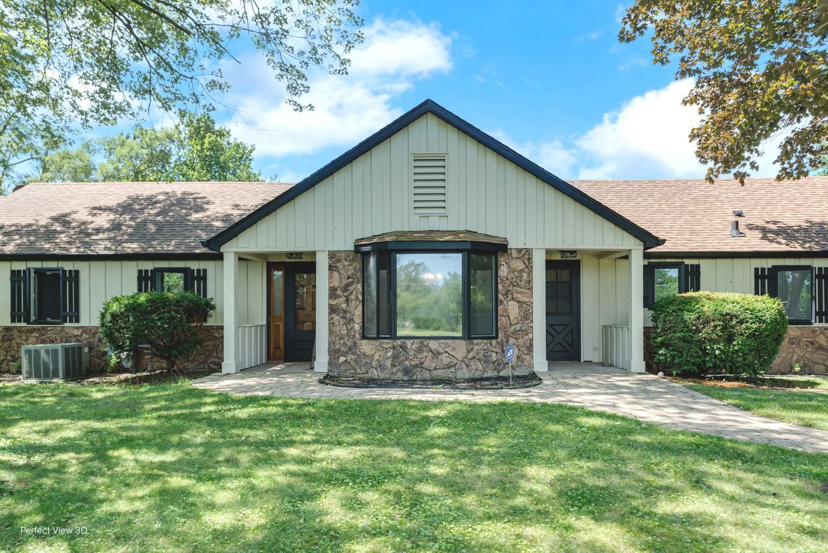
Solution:
[[[296,199],[299,195],[305,193],[307,190],[310,190],[322,180],[325,180],[329,176],[333,175],[336,171],[339,171],[359,156],[362,156],[364,153],[371,150],[373,147],[376,147],[378,144],[388,140],[388,138],[397,134],[397,132],[400,132],[403,128],[416,121],[416,119],[426,115],[426,113],[434,114],[437,118],[445,121],[445,123],[449,123],[460,132],[464,132],[466,135],[474,138],[474,140],[480,142],[485,147],[488,147],[489,149],[505,157],[508,161],[512,161],[522,170],[527,171],[540,180],[543,180],[547,185],[561,191],[562,194],[569,196],[572,200],[575,200],[585,208],[590,209],[603,219],[608,220],[615,226],[632,234],[635,238],[638,238],[644,243],[644,249],[655,248],[663,243],[663,241],[657,238],[654,234],[642,227],[639,227],[637,224],[634,224],[631,220],[626,219],[620,214],[614,212],[612,209],[609,209],[606,205],[601,204],[598,200],[586,195],[584,192],[575,188],[575,186],[570,185],[565,180],[561,180],[560,178],[552,175],[549,171],[546,171],[546,169],[543,169],[534,161],[527,159],[517,153],[517,151],[514,151],[512,148],[503,144],[503,142],[498,141],[494,137],[490,137],[478,127],[474,127],[471,123],[468,123],[454,113],[451,113],[449,110],[443,108],[440,104],[434,102],[433,100],[426,99],[425,102],[416,106],[407,113],[402,114],[402,116],[397,118],[395,121],[389,123],[378,132],[373,133],[373,135],[363,140],[363,142],[359,142],[359,144],[337,157],[334,161],[330,161],[330,163],[322,167],[319,171],[315,171],[315,173],[306,177],[306,179],[299,181],[296,185],[291,186],[291,188],[285,190],[282,194],[267,202],[267,204],[262,205],[260,208],[246,215],[243,219],[238,220],[235,224],[225,228],[213,238],[203,241],[202,244],[205,248],[218,252],[221,246],[227,243],[231,238],[238,236],[238,234],[242,233],[244,230],[252,227],[253,224],[258,223],[258,221],[264,219],[268,214],[272,214],[272,212],[282,207],[282,205]]]

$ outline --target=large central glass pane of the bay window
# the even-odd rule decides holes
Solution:
[[[397,335],[463,334],[463,255],[397,254]]]

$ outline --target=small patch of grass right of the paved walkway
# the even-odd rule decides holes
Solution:
[[[828,430],[828,378],[772,377],[761,387],[676,379],[696,392],[777,421]]]

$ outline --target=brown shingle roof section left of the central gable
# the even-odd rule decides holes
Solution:
[[[278,182],[34,183],[0,197],[0,255],[207,253],[201,240],[290,187]]]

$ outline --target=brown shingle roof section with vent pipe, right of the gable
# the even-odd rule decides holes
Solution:
[[[747,179],[744,187],[701,179],[569,182],[667,240],[651,252],[828,251],[828,177]],[[730,236],[733,220],[744,237]]]

